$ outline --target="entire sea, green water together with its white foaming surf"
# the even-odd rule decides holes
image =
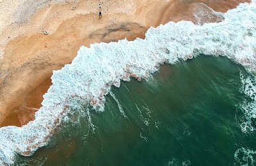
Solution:
[[[169,22],[148,29],[145,40],[82,46],[53,72],[35,120],[0,128],[0,165],[36,157],[36,165],[252,164],[256,3],[223,17],[203,26]]]

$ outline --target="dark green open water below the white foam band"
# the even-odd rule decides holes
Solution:
[[[242,147],[256,150],[256,133],[240,127],[240,73],[249,75],[226,57],[165,64],[148,82],[113,87],[105,112],[90,110],[92,123],[84,116],[63,124],[49,146],[17,165],[256,165],[255,153],[234,157]]]

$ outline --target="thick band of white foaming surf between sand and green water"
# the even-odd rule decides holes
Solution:
[[[0,165],[12,165],[15,155],[30,156],[46,146],[54,129],[67,119],[71,107],[93,107],[102,112],[111,86],[119,87],[121,80],[129,81],[131,77],[147,80],[160,64],[175,64],[205,54],[227,56],[255,72],[256,2],[240,4],[224,17],[223,22],[202,26],[188,21],[169,22],[148,29],[145,40],[82,46],[71,64],[53,72],[52,86],[44,94],[35,120],[22,127],[0,128]],[[246,78],[242,79],[246,82]],[[256,85],[245,87],[244,91],[252,95],[252,88]],[[250,108],[244,107],[250,115],[248,121],[256,118],[255,100]],[[244,123],[246,130],[250,122]]]

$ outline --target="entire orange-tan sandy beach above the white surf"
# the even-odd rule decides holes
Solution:
[[[98,2],[0,0],[0,126],[31,121],[51,85],[52,70],[71,63],[81,45],[145,38],[148,27],[170,20],[220,22],[223,17],[215,11],[250,1],[101,0],[102,19]]]

